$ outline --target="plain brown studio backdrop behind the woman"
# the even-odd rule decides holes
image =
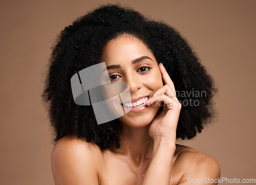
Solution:
[[[0,184],[54,184],[53,145],[40,103],[41,73],[56,35],[78,16],[115,1],[1,1]],[[255,1],[120,1],[177,28],[219,86],[219,120],[194,147],[227,178],[256,178]]]

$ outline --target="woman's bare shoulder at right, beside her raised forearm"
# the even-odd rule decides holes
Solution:
[[[214,158],[196,149],[182,145],[177,145],[176,153],[176,163],[184,169],[179,184],[191,183],[192,181],[189,181],[189,179],[218,179],[220,177],[220,166]]]

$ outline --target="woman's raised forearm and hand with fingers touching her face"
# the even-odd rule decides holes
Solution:
[[[152,98],[145,102],[148,106],[155,102],[163,102],[161,112],[156,115],[148,130],[154,145],[152,161],[143,180],[145,185],[170,184],[170,172],[176,149],[176,129],[181,110],[173,81],[161,63],[159,69],[165,85],[155,91]]]

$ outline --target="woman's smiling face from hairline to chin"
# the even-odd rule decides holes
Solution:
[[[130,111],[118,120],[135,128],[151,123],[161,103],[139,107],[133,102],[143,102],[163,86],[161,72],[152,52],[137,37],[123,34],[106,44],[101,62],[105,62],[111,82],[126,82],[130,88],[133,107],[122,105]]]

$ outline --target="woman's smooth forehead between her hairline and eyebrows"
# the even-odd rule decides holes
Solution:
[[[103,50],[102,61],[107,63],[119,63],[132,61],[141,56],[148,56],[155,59],[153,53],[137,37],[123,34],[110,40]]]

